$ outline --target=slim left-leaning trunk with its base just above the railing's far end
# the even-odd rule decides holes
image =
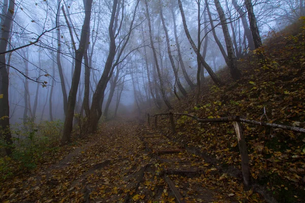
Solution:
[[[158,58],[157,58],[157,52],[156,52],[156,49],[155,49],[155,46],[154,46],[153,34],[151,33],[151,24],[150,24],[150,16],[149,16],[147,0],[145,0],[145,6],[146,6],[148,28],[149,28],[150,44],[151,44],[151,49],[153,49],[153,53],[154,53],[154,58],[155,58],[155,62],[156,62],[156,68],[157,68],[157,72],[158,72],[158,76],[159,76],[159,80],[160,80],[161,93],[162,93],[162,97],[163,97],[164,103],[166,104],[168,109],[171,110],[172,106],[170,105],[169,101],[166,98],[166,94],[165,94],[165,90],[164,90],[164,84],[163,84],[163,80],[162,80],[162,77],[161,77],[160,67],[159,67]]]

